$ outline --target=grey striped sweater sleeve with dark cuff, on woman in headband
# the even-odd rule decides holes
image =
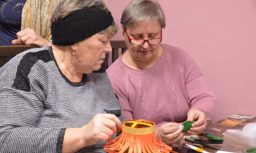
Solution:
[[[0,152],[62,152],[65,129],[36,127],[43,107],[33,92],[0,88]]]

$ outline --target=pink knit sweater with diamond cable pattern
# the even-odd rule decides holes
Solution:
[[[180,48],[161,46],[163,53],[150,68],[134,70],[119,57],[107,69],[125,118],[151,120],[160,127],[183,122],[194,108],[212,120],[216,98],[196,62]]]

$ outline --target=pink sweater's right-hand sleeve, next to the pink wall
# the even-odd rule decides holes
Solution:
[[[208,122],[211,122],[215,116],[216,97],[209,90],[196,62],[186,52],[184,75],[191,109],[203,111]]]

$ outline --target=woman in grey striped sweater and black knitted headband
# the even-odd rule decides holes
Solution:
[[[117,32],[106,3],[63,0],[52,16],[53,45],[0,68],[0,153],[105,152],[125,120],[99,70]]]

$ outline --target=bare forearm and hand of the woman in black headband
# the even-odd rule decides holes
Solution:
[[[97,114],[87,125],[65,130],[62,153],[76,152],[98,140],[106,141],[121,129],[122,123],[114,114]]]

